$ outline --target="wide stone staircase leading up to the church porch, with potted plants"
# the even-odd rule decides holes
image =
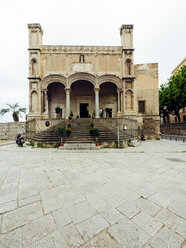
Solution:
[[[90,123],[92,119],[90,118],[76,118],[71,122],[72,134],[70,137],[67,137],[65,143],[67,144],[94,144],[95,138],[89,134]],[[98,137],[98,141],[100,143],[103,142],[117,142],[117,132],[116,129],[109,129],[109,120],[108,125],[103,125],[101,122],[95,124],[95,127],[100,130],[100,136]],[[40,143],[50,143],[55,144],[60,142],[60,138],[58,137],[58,127],[64,127],[65,120],[63,120],[60,124],[45,130],[43,132],[37,133],[35,135],[35,141]],[[120,132],[120,140],[128,140],[133,138],[133,136],[126,134],[124,131]],[[85,145],[86,146],[86,145]],[[68,147],[68,146],[66,146]]]

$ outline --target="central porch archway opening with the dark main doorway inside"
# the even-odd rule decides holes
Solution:
[[[71,85],[70,110],[75,117],[89,118],[95,111],[94,85],[89,81],[78,80]]]

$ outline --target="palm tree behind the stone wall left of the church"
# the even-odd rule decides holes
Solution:
[[[21,113],[26,113],[26,108],[20,108],[18,103],[15,103],[13,105],[7,103],[6,105],[8,105],[9,108],[1,109],[0,115],[12,112],[12,117],[15,122],[19,121],[19,116]]]

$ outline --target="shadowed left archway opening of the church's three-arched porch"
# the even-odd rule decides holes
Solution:
[[[50,118],[64,118],[66,108],[65,86],[61,83],[54,82],[48,85],[48,113]],[[57,111],[56,108],[60,108]]]

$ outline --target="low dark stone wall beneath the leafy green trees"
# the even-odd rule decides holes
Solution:
[[[161,124],[160,131],[163,134],[186,136],[186,122]]]

